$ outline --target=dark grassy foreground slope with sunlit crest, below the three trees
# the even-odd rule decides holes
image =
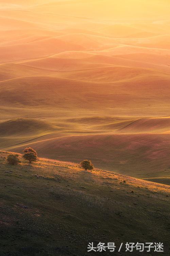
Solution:
[[[7,154],[0,152],[1,256],[93,255],[88,242],[163,242],[169,255],[169,186],[57,160],[10,166]],[[159,255],[128,254],[124,245],[102,254]]]

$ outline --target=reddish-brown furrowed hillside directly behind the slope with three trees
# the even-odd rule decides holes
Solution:
[[[142,179],[170,177],[170,134],[52,134],[7,147],[21,153],[31,146],[41,157],[80,162],[91,159],[98,168]],[[163,183],[163,182],[162,182]]]

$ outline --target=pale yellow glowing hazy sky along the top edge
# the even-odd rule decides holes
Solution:
[[[37,5],[37,6],[36,6]],[[100,19],[169,19],[169,0],[5,0],[1,8],[29,8],[37,12]]]

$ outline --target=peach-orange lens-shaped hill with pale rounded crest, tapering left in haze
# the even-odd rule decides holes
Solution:
[[[59,54],[55,54],[45,58],[39,58],[29,61],[19,61],[18,63],[23,63],[24,65],[28,65],[31,67],[40,67],[56,71],[74,71],[113,66],[120,66],[120,68],[148,68],[155,69],[156,71],[159,70],[159,72],[170,71],[169,65],[161,65],[161,62],[157,64],[156,61],[155,63],[152,63],[152,59],[149,60],[150,62],[147,62],[147,60],[130,60],[126,59],[126,55],[125,58],[122,58],[122,56],[115,57],[112,56],[112,54],[114,55],[115,53],[107,53],[107,51],[88,51],[82,54],[82,51],[68,51],[61,52]]]

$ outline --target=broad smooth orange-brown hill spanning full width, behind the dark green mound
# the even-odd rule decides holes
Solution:
[[[89,109],[112,115],[152,115],[153,111],[157,115],[168,115],[169,81],[169,75],[156,73],[150,76],[149,82],[145,74],[108,83],[48,76],[21,77],[0,82],[1,105],[41,109],[57,106],[63,110]]]

